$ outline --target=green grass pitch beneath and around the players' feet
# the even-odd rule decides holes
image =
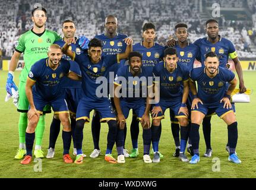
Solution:
[[[15,72],[15,83],[18,84],[18,75]],[[256,90],[255,72],[244,72],[245,85]],[[102,154],[97,159],[89,157],[93,150],[93,140],[91,137],[91,124],[84,127],[83,150],[87,154],[84,163],[65,164],[62,161],[62,138],[61,134],[56,143],[55,157],[53,159],[42,159],[42,172],[35,172],[37,163],[32,162],[29,166],[20,164],[20,160],[15,160],[14,156],[18,148],[18,112],[10,102],[4,102],[6,91],[5,83],[7,71],[0,71],[0,178],[255,178],[256,177],[256,93],[251,95],[251,103],[236,104],[236,119],[238,121],[238,147],[236,152],[242,160],[241,164],[233,164],[227,161],[225,146],[227,143],[227,126],[217,116],[213,116],[211,121],[211,141],[213,156],[209,158],[200,157],[200,163],[192,165],[182,163],[177,158],[172,157],[175,151],[172,132],[170,130],[169,112],[166,112],[166,119],[162,121],[162,137],[160,139],[159,150],[164,155],[160,163],[145,164],[143,162],[143,140],[142,129],[139,135],[140,155],[136,159],[127,158],[125,164],[110,164],[105,162],[104,153],[106,150],[106,124],[102,124],[100,133],[100,148]],[[92,113],[91,113],[92,114]],[[45,156],[49,143],[49,126],[52,114],[46,115],[46,129],[43,138],[43,151]],[[128,119],[127,140],[125,147],[131,150],[131,135],[129,125],[131,124],[131,114]],[[202,128],[200,127],[200,153],[205,151],[205,143]],[[71,144],[72,153],[72,144]],[[113,148],[113,156],[116,157],[116,149]],[[190,159],[191,156],[189,156]],[[75,159],[74,156],[72,156]],[[219,160],[219,172],[213,169]]]

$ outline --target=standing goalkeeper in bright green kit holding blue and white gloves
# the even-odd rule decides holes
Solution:
[[[20,138],[20,147],[18,148],[15,159],[23,159],[26,154],[26,128],[27,128],[27,112],[29,110],[29,101],[25,93],[26,80],[31,66],[40,59],[47,58],[48,47],[54,42],[61,39],[55,31],[45,29],[46,9],[43,7],[35,7],[32,10],[31,19],[33,21],[33,29],[22,34],[15,45],[15,52],[12,55],[6,90],[7,97],[14,98],[14,104],[17,104],[17,110],[20,112],[18,121],[18,133]],[[20,74],[20,83],[17,86],[14,84],[14,71],[17,68],[18,60],[21,53],[24,53],[25,67]],[[45,113],[50,112],[50,106],[45,107]],[[36,128],[36,147],[34,148],[34,156],[43,158],[41,148],[43,132],[45,130],[45,115],[40,116],[39,123]]]

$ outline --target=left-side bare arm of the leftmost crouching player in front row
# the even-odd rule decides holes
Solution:
[[[28,78],[26,83],[26,88],[25,88],[27,99],[29,100],[29,105],[30,105],[30,110],[29,112],[27,112],[27,117],[29,120],[33,118],[34,115],[38,117],[40,116],[40,114],[36,110],[36,107],[34,106],[34,100],[33,100],[33,94],[32,94],[32,87],[35,83],[36,81],[32,81]]]

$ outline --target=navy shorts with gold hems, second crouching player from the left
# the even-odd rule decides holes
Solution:
[[[86,123],[89,123],[90,112],[93,109],[99,112],[100,122],[116,120],[115,110],[113,109],[108,98],[92,100],[87,99],[86,97],[82,97],[78,103],[76,120],[78,121],[79,119],[84,119]]]

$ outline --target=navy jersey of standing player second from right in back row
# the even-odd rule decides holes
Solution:
[[[188,46],[181,48],[178,44],[174,46],[178,53],[178,64],[182,66],[186,66],[189,71],[191,71],[194,67],[195,58],[198,57],[200,53],[199,47],[188,43]]]

